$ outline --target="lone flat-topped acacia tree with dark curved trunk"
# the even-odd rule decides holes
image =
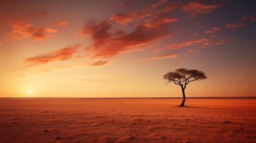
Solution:
[[[163,75],[164,80],[166,80],[166,85],[169,82],[174,82],[174,84],[177,84],[181,86],[182,94],[183,94],[183,101],[180,104],[180,106],[184,106],[186,96],[185,96],[185,88],[186,85],[189,84],[189,82],[195,81],[195,80],[203,80],[207,79],[205,76],[205,73],[199,70],[189,70],[187,68],[178,68],[174,72],[167,72],[165,75]]]

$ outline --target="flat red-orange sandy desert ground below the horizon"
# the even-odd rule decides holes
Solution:
[[[256,143],[256,99],[180,102],[2,98],[0,143]]]

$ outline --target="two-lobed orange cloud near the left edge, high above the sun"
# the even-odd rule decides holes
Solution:
[[[13,30],[9,32],[8,35],[15,40],[32,37],[32,40],[34,41],[41,41],[53,37],[54,35],[51,33],[58,33],[58,30],[56,29],[45,27],[31,28],[31,24],[26,24],[24,22],[14,22],[11,26],[13,27]]]

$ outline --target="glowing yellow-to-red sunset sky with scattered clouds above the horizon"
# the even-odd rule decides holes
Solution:
[[[256,1],[1,1],[0,51],[0,97],[256,96]]]

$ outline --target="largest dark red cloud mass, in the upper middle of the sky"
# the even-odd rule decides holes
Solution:
[[[162,23],[161,29],[148,29],[147,26],[141,24],[137,25],[131,33],[117,36],[116,32],[111,32],[110,22],[102,21],[91,22],[84,26],[81,32],[84,36],[90,35],[94,42],[93,57],[108,58],[119,53],[141,50],[138,46],[170,36],[167,27],[168,22]]]

